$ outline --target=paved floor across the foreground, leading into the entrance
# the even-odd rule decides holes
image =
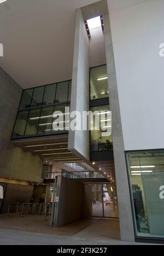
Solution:
[[[83,219],[50,228],[44,216],[0,216],[0,245],[137,245],[120,241],[119,220]]]

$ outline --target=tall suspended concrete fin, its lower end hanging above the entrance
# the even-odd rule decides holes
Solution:
[[[79,111],[81,116],[83,111],[89,110],[89,38],[81,9],[77,9],[75,23],[71,112],[75,110]],[[70,130],[68,149],[84,161],[89,160],[89,131]]]

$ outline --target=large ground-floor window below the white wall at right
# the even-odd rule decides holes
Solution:
[[[164,237],[164,151],[127,153],[137,236]]]

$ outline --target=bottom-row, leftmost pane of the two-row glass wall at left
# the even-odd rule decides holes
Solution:
[[[13,131],[13,137],[24,136],[28,110],[21,111],[17,114],[16,123]]]

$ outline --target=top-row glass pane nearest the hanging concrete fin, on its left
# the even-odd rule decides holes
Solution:
[[[68,82],[57,84],[55,103],[67,102],[68,99]]]

